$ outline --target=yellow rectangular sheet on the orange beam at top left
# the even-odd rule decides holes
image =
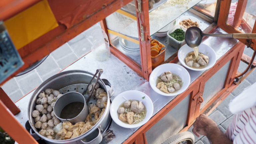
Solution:
[[[47,0],[9,18],[4,24],[17,50],[58,26]]]

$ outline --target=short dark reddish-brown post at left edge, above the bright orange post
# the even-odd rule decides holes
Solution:
[[[20,109],[13,103],[10,97],[4,92],[4,90],[0,87],[0,100],[4,103],[4,105],[12,112],[12,114],[16,115],[20,112]]]

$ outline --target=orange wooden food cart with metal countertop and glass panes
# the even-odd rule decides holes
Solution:
[[[1,85],[100,21],[110,42],[111,55],[109,59],[97,61],[89,52],[63,69],[62,72],[69,70],[94,72],[101,68],[104,70],[101,78],[108,79],[114,90],[114,95],[110,97],[112,101],[118,94],[127,90],[141,91],[152,100],[154,111],[146,124],[138,128],[127,129],[111,121],[109,128],[102,131],[101,143],[162,143],[169,137],[186,131],[200,114],[210,114],[256,66],[255,52],[252,58],[243,54],[245,45],[256,50],[255,39],[204,37],[202,43],[210,46],[216,53],[217,61],[213,67],[205,71],[188,69],[190,85],[177,96],[163,96],[151,88],[148,81],[155,63],[151,61],[150,40],[156,39],[166,46],[164,62],[161,64],[181,65],[178,60],[178,50],[168,44],[168,36],[160,38],[155,33],[174,20],[178,20],[183,13],[185,16],[200,19],[200,28],[204,33],[245,33],[246,35],[256,32],[255,15],[246,11],[248,9],[247,0],[238,0],[236,11],[232,15],[232,24],[229,19],[230,9],[233,8],[231,0],[214,1],[214,4],[211,4],[211,7],[214,7],[213,11],[211,11],[212,8],[209,10],[205,6],[200,6],[198,4],[200,1],[183,0],[181,3],[179,0],[168,0],[172,5],[169,5],[167,12],[171,14],[168,15],[170,17],[166,16],[166,19],[162,19],[160,27],[155,26],[159,25],[159,22],[154,23],[156,22],[154,20],[157,19],[157,16],[160,17],[160,13],[157,12],[162,10],[161,6],[167,4],[167,0],[160,0],[150,10],[147,0],[132,2],[131,0],[14,0],[2,3],[0,5],[1,19],[5,23],[24,65],[16,69],[16,72],[8,76]],[[17,23],[14,22],[17,21],[15,19],[11,21],[10,18],[23,15],[31,16],[31,13],[24,11],[31,10],[30,12],[33,12],[35,7],[43,7],[42,11],[48,14],[51,21],[47,21],[46,29],[36,31],[36,35],[33,35],[33,32],[27,32],[27,36],[34,37],[20,43],[18,38],[15,39],[12,36],[25,34],[24,32],[15,33],[14,28]],[[37,14],[37,18],[40,19],[41,15]],[[120,17],[121,19],[113,19]],[[157,20],[160,21],[160,19]],[[120,22],[125,25],[120,26]],[[134,24],[136,28],[133,27]],[[28,24],[28,26],[31,25]],[[33,26],[38,26],[37,29],[42,27],[38,23]],[[120,39],[138,44],[139,54],[134,56],[123,51]],[[237,71],[240,61],[248,64],[244,72]],[[0,115],[2,116],[0,127],[19,144],[38,143],[25,129],[25,124],[28,121],[28,103],[33,92],[31,91],[13,103],[5,92],[0,90]]]

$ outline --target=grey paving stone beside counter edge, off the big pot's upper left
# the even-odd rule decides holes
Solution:
[[[34,71],[30,75],[23,77],[22,79],[19,79],[18,82],[23,92],[27,94],[35,87],[40,85],[43,81],[41,80],[39,74],[36,71]]]

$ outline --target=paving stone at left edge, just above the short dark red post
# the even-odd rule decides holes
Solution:
[[[12,78],[10,80],[8,80],[3,86],[1,86],[1,88],[4,90],[4,92],[7,95],[12,94],[13,92],[17,91],[18,89],[20,89],[18,83],[16,82],[15,78]]]

